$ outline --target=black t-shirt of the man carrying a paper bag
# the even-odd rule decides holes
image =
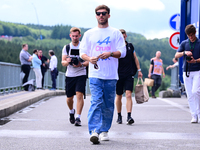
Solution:
[[[124,78],[132,74],[134,46],[126,42],[126,56],[119,58],[118,74],[119,78]]]

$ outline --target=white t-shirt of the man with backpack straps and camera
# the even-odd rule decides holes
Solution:
[[[79,49],[80,46],[80,42],[78,44],[78,46],[74,46],[72,43],[70,43],[70,49],[69,49],[69,54],[67,54],[66,51],[66,45],[63,47],[62,50],[62,55],[69,55],[70,57],[74,57],[74,55],[70,55],[71,54],[71,49]],[[79,56],[76,56],[77,58],[79,58]],[[67,66],[67,71],[65,76],[67,77],[77,77],[77,76],[82,76],[82,75],[86,75],[86,69],[85,67],[78,67],[78,68],[74,68],[72,65],[68,65]]]

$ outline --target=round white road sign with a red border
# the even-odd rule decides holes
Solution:
[[[175,32],[174,34],[172,34],[169,38],[169,45],[177,50],[180,44],[180,32]]]

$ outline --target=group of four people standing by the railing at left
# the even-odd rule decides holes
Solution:
[[[33,50],[33,55],[28,52],[28,44],[22,45],[22,50],[20,52],[19,58],[21,62],[21,71],[24,73],[22,79],[22,84],[28,81],[29,73],[31,70],[31,64],[33,71],[35,72],[36,78],[36,88],[38,90],[44,89],[44,76],[49,68],[51,70],[52,88],[50,90],[56,90],[56,78],[58,75],[57,71],[57,57],[53,50],[49,50],[49,56],[51,59],[47,59],[43,55],[42,50]],[[28,84],[23,86],[25,91],[28,91]]]

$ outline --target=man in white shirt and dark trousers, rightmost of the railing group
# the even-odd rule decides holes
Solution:
[[[52,88],[50,90],[56,90],[56,78],[58,75],[58,70],[57,70],[58,60],[53,50],[49,50],[49,56],[51,57],[49,69],[51,71],[51,80],[52,80]]]

